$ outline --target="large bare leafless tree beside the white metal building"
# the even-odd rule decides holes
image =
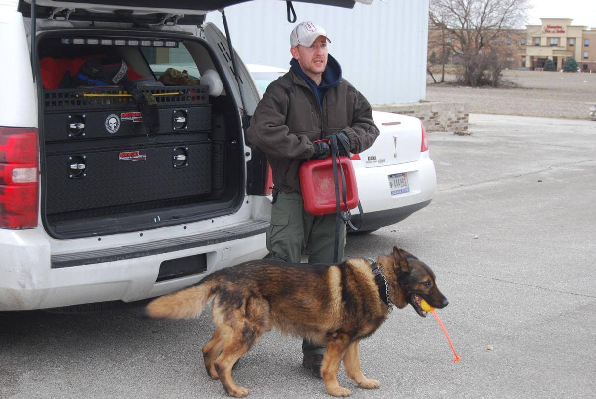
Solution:
[[[526,21],[530,0],[430,0],[429,26],[451,38],[450,46],[462,59],[460,82],[467,86],[501,82],[519,43],[516,29]]]

